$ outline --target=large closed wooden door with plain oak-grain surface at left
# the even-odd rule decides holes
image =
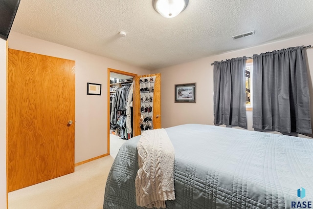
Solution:
[[[7,77],[8,191],[74,172],[75,61],[9,49]]]

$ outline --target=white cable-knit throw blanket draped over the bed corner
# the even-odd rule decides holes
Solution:
[[[165,208],[166,200],[175,200],[175,151],[166,130],[144,131],[137,149],[136,203],[146,208]]]

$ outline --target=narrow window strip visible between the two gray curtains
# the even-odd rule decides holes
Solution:
[[[252,59],[246,61],[246,110],[252,111]]]

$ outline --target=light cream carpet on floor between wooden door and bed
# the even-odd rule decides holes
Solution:
[[[75,167],[75,172],[8,194],[9,209],[102,209],[106,180],[119,147],[110,137],[110,155]]]

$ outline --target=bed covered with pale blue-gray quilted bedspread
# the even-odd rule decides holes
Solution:
[[[288,209],[313,201],[313,139],[199,124],[165,130],[175,148],[176,199],[168,209]],[[142,209],[134,188],[139,138],[114,159],[103,209]]]

